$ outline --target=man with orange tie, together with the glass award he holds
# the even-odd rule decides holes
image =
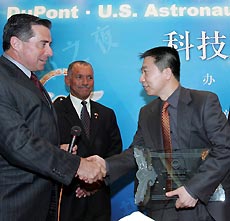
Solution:
[[[230,126],[217,95],[180,85],[180,59],[174,48],[152,48],[140,57],[140,82],[148,95],[158,98],[141,108],[130,148],[106,162],[101,159],[110,183],[137,165],[146,167],[147,173],[137,173],[140,180],[155,175],[144,187],[139,183],[137,193],[144,190],[149,196],[139,203],[149,217],[229,220]]]

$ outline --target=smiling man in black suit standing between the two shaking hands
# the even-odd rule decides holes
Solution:
[[[120,153],[122,140],[114,111],[91,100],[94,87],[94,71],[91,64],[86,61],[72,62],[68,67],[65,83],[70,89],[70,95],[55,102],[61,143],[69,143],[71,128],[77,125],[82,128],[82,133],[76,142],[79,156],[88,157],[97,154],[106,158]],[[82,101],[87,102],[87,111],[90,115],[89,135],[81,119]],[[78,198],[75,193],[76,184],[79,186],[78,190],[95,191],[95,193]],[[63,187],[60,220],[110,221],[110,204],[108,186],[103,183],[86,186],[76,179],[72,185]]]

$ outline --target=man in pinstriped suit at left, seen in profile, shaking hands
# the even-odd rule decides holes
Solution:
[[[98,164],[60,149],[50,98],[30,79],[52,55],[51,23],[33,15],[11,16],[0,57],[0,220],[56,221],[57,182],[75,176],[102,178]]]

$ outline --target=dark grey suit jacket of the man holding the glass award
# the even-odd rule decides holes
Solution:
[[[158,98],[141,108],[138,129],[131,147],[121,155],[107,159],[111,182],[123,176],[131,168],[136,167],[133,145],[143,145],[154,151],[163,151],[161,106],[162,102]],[[202,203],[209,205],[210,196],[221,183],[226,195],[229,196],[230,127],[221,110],[218,97],[211,92],[182,87],[177,109],[177,134],[180,149],[210,149],[210,153],[202,166],[186,184],[190,193],[198,197]],[[227,205],[224,203],[218,205],[223,205],[221,209],[223,217],[229,218],[230,214],[225,216],[229,213],[230,205],[229,200],[226,199],[226,201],[228,201]],[[213,216],[220,217],[221,214],[214,212]],[[222,218],[221,221],[226,219]]]

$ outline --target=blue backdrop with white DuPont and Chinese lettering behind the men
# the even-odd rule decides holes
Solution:
[[[54,56],[37,74],[51,98],[68,94],[64,73],[69,63],[89,61],[95,71],[94,99],[114,109],[127,148],[140,107],[154,99],[145,95],[139,83],[138,56],[152,47],[174,46],[181,57],[182,85],[217,93],[228,114],[229,2],[1,0],[0,29],[15,13],[50,19]],[[113,185],[112,191],[113,221],[136,210],[129,177]]]

